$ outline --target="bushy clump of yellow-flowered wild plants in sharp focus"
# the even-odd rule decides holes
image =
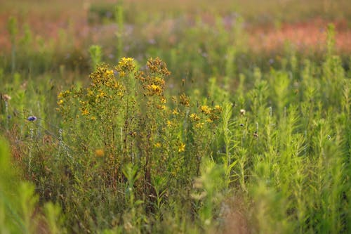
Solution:
[[[143,71],[136,69],[132,58],[121,58],[115,67],[99,65],[87,88],[59,94],[58,110],[65,119],[63,137],[74,145],[65,167],[72,171],[72,178],[85,181],[69,187],[100,190],[95,202],[100,196],[117,195],[103,206],[131,215],[133,230],[143,230],[146,224],[135,209],[138,215],[154,216],[154,221],[147,219],[150,228],[164,216],[162,209],[170,194],[189,197],[178,190],[191,187],[193,178],[200,175],[201,159],[211,152],[222,112],[219,105],[194,105],[185,93],[166,97],[169,74],[159,58],[148,60]],[[67,157],[62,153],[59,157]],[[79,201],[80,194],[62,196],[70,213],[73,207],[86,206]],[[79,209],[70,215],[73,220],[81,216]],[[93,223],[90,219],[85,221]]]

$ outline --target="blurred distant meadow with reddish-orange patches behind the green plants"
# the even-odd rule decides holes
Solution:
[[[140,62],[160,56],[176,70],[180,64],[175,59],[184,66],[195,59],[204,67],[217,67],[207,71],[213,74],[220,73],[227,48],[232,48],[239,64],[269,66],[291,48],[303,56],[317,56],[329,22],[336,25],[338,52],[345,57],[351,50],[347,0],[1,0],[0,4],[0,65],[5,70],[11,69],[14,44],[16,67],[39,73],[62,66],[88,72],[92,44],[102,47],[102,60],[108,63],[116,63],[120,56]],[[8,28],[11,17],[17,30],[13,37]],[[189,66],[181,68],[196,72]]]

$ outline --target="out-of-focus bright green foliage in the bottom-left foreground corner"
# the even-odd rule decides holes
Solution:
[[[43,214],[38,210],[38,195],[34,186],[20,182],[18,169],[11,164],[8,144],[0,138],[0,232],[37,233],[46,230],[50,233],[65,233],[62,228],[60,207],[46,203]],[[46,226],[48,223],[48,226]]]

